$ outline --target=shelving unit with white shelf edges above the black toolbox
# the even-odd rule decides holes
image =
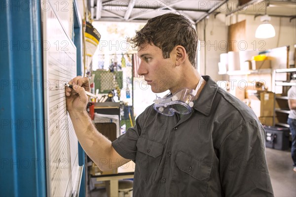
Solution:
[[[287,119],[290,114],[290,109],[288,105],[287,92],[291,86],[296,85],[296,83],[289,82],[290,73],[292,72],[296,72],[296,68],[284,68],[274,70],[274,92],[279,91],[277,86],[281,87],[280,94],[276,94],[275,97],[275,126],[289,128],[289,125],[287,124]],[[281,74],[280,78],[277,77],[278,74]]]

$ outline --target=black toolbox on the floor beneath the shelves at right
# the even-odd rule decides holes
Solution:
[[[289,149],[289,128],[264,126],[264,130],[266,131],[266,147],[277,150]]]

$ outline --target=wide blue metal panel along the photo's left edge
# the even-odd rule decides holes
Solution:
[[[0,196],[46,196],[40,1],[1,0],[0,20]]]

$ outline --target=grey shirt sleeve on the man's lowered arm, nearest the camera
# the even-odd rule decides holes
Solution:
[[[265,157],[265,131],[249,121],[231,131],[219,149],[220,179],[226,197],[273,197]]]

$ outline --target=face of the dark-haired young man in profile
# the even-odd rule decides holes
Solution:
[[[145,77],[153,93],[171,90],[175,86],[172,58],[164,59],[162,51],[155,45],[143,45],[138,51],[141,64],[138,74]]]

